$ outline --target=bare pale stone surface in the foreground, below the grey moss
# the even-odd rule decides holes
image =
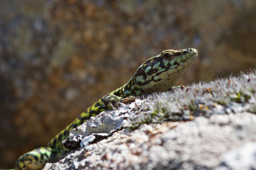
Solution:
[[[247,112],[156,126],[144,124],[131,133],[115,132],[107,139],[66,155],[57,163],[47,163],[44,170],[210,170],[220,165],[223,168],[222,161],[229,161],[226,163],[231,167],[229,170],[237,170],[232,168],[237,160],[227,160],[223,155],[256,141],[255,125],[256,115]],[[252,148],[255,146],[254,143]],[[244,153],[240,159],[251,166],[243,170],[256,168],[253,164],[256,151]]]

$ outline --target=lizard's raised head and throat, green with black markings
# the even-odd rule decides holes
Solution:
[[[165,50],[159,55],[147,59],[127,83],[130,92],[142,95],[158,91],[167,91],[173,87],[183,72],[197,58],[196,49]]]

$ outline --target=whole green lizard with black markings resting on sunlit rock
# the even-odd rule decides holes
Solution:
[[[16,162],[16,170],[37,170],[45,166],[47,162],[55,162],[67,150],[62,144],[69,131],[86,120],[98,115],[105,110],[111,110],[110,103],[115,105],[129,96],[145,95],[152,92],[167,91],[174,86],[183,72],[196,59],[196,49],[165,50],[161,54],[146,60],[123,86],[102,97],[91,107],[73,120],[64,130],[56,135],[46,147],[37,148],[23,154]]]

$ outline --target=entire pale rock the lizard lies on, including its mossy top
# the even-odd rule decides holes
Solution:
[[[101,112],[71,130],[68,142],[78,147],[44,170],[254,170],[256,71],[226,80]]]

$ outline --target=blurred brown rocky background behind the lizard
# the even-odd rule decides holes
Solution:
[[[199,51],[177,85],[256,68],[256,0],[0,1],[0,168],[165,49]]]

